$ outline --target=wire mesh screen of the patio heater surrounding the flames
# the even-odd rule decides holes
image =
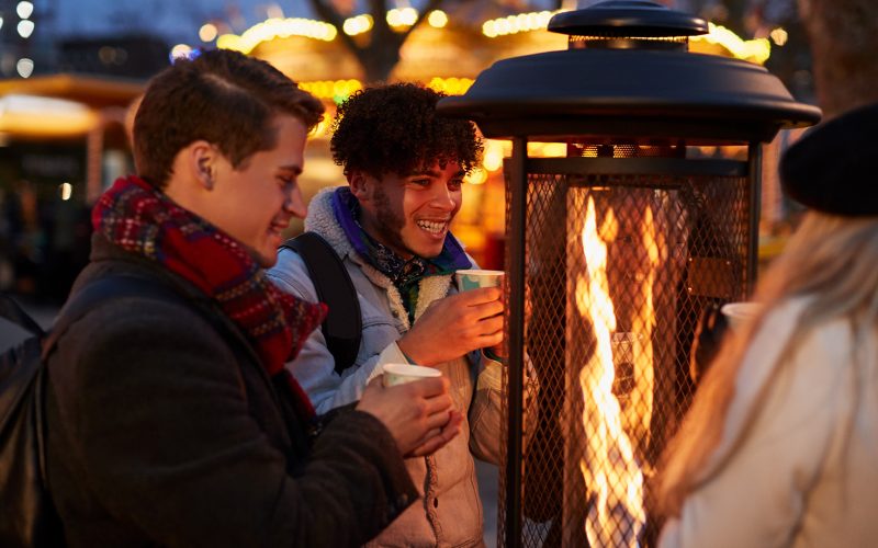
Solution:
[[[529,174],[521,546],[655,544],[698,319],[745,297],[747,196],[736,176]]]

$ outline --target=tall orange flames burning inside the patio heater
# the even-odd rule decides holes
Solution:
[[[643,471],[631,438],[649,438],[653,386],[651,340],[655,323],[652,284],[660,258],[652,212],[646,209],[641,243],[648,250],[650,264],[649,274],[641,278],[640,313],[632,332],[615,332],[606,241],[615,239],[617,227],[611,210],[605,217],[598,232],[595,204],[589,197],[582,232],[587,267],[576,281],[576,306],[582,316],[590,319],[596,341],[595,352],[579,373],[585,430],[579,468],[588,489],[585,533],[590,546],[633,547],[639,545],[646,517]],[[612,392],[617,362],[632,369],[633,386],[626,406]]]

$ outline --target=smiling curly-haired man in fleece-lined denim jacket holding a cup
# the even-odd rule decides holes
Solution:
[[[500,364],[482,349],[503,340],[500,290],[458,293],[453,273],[474,265],[449,231],[482,142],[472,123],[437,116],[441,96],[397,83],[342,103],[331,148],[348,185],[319,193],[305,219],[342,259],[363,326],[356,363],[340,375],[320,330],[288,364],[317,409],[354,401],[383,364],[408,362],[440,369],[455,407],[469,413],[464,435],[430,457],[406,460],[424,500],[375,538],[378,546],[482,545],[473,456],[496,463],[498,454]],[[295,252],[281,250],[269,275],[316,300]]]

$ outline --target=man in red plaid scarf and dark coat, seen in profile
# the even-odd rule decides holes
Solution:
[[[150,82],[139,176],[95,205],[72,295],[116,274],[167,295],[103,302],[48,358],[48,483],[69,546],[359,546],[417,499],[402,455],[453,437],[437,379],[372,384],[318,419],[283,369],[326,309],[261,266],[305,215],[296,179],[322,113],[229,50]]]

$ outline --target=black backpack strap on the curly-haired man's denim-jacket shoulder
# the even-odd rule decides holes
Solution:
[[[315,232],[303,232],[286,240],[281,248],[299,253],[305,261],[317,299],[326,302],[329,313],[323,322],[323,335],[339,375],[353,365],[360,351],[362,316],[357,289],[341,258]]]

